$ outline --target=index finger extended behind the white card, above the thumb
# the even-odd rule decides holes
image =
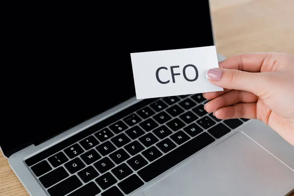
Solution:
[[[219,63],[220,68],[260,72],[262,67],[269,66],[273,52],[244,53],[229,57]]]

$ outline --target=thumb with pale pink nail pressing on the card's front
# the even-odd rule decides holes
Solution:
[[[206,76],[213,84],[222,88],[248,91],[257,96],[264,95],[270,86],[266,73],[218,68],[208,70]]]

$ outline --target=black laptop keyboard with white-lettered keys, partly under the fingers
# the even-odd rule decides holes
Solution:
[[[49,196],[124,196],[247,121],[208,114],[202,94],[149,102],[25,163]]]

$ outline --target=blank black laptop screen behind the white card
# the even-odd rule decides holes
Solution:
[[[174,6],[100,6],[93,11],[88,4],[69,5],[57,11],[58,17],[53,12],[42,20],[34,16],[31,26],[18,21],[25,28],[10,38],[12,60],[20,65],[7,72],[9,111],[6,136],[0,137],[4,154],[134,97],[131,52],[214,45],[208,0],[184,10]]]

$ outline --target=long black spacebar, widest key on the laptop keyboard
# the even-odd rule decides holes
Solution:
[[[144,181],[149,182],[214,141],[215,139],[213,137],[204,132],[186,144],[172,150],[165,156],[154,161],[147,167],[140,170],[138,174]]]

